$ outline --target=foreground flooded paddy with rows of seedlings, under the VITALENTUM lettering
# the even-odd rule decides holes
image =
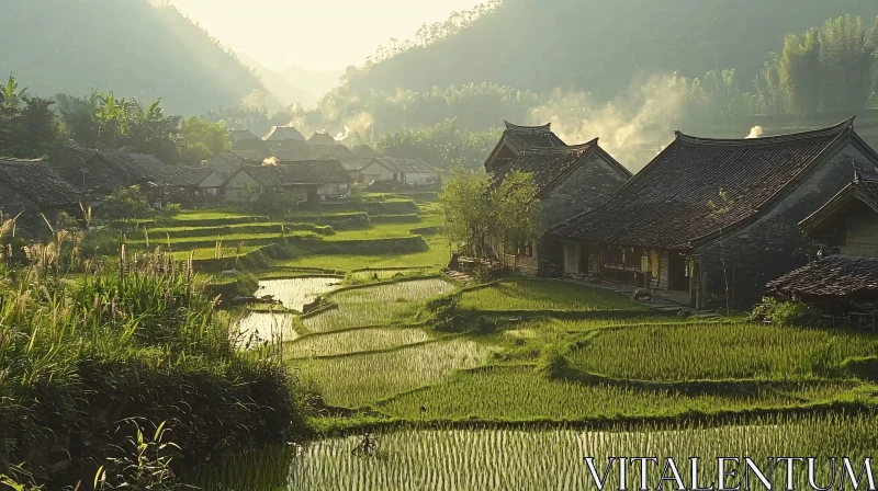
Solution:
[[[610,456],[658,457],[660,465],[646,467],[649,489],[657,487],[664,459],[668,457],[674,458],[686,487],[691,488],[688,469],[693,456],[700,457],[705,467],[700,469],[699,480],[703,479],[708,486],[716,482],[718,457],[750,457],[765,471],[769,456],[815,456],[820,457],[818,482],[825,486],[830,472],[826,457],[844,455],[862,464],[873,455],[876,432],[878,422],[867,415],[766,418],[742,426],[680,425],[675,430],[397,431],[375,435],[376,452],[371,458],[352,453],[361,442],[359,436],[326,439],[301,448],[290,467],[288,489],[592,489],[595,483],[583,461],[586,456],[594,457],[598,473],[603,473]],[[623,486],[620,486],[618,469],[609,472],[606,489],[641,489],[640,469],[632,466]],[[755,477],[752,479],[754,489],[764,489]],[[772,472],[773,489],[786,489],[785,481],[785,467],[779,464]],[[729,481],[730,486],[739,483],[740,475]],[[795,484],[796,489],[811,489],[808,472],[797,471]]]

